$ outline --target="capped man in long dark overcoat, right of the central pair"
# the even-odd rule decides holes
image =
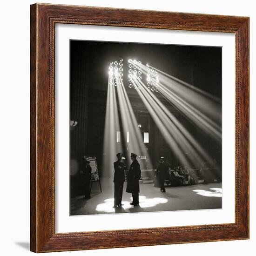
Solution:
[[[131,202],[130,204],[134,206],[139,205],[139,192],[140,192],[139,180],[141,178],[141,168],[136,157],[137,157],[136,154],[131,153],[132,163],[129,168],[128,178],[127,178],[127,188],[126,188],[126,192],[132,193],[133,202]]]

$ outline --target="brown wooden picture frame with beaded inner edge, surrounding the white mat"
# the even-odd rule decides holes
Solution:
[[[249,239],[249,18],[52,4],[31,5],[31,231],[33,252]],[[54,26],[56,23],[235,34],[235,222],[55,233]]]

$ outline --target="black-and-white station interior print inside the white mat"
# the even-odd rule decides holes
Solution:
[[[70,40],[70,216],[222,209],[222,47]]]

